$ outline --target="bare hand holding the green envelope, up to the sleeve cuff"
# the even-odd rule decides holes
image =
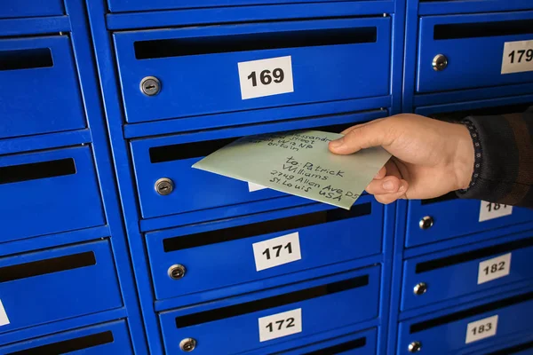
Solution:
[[[367,186],[381,203],[431,199],[468,187],[474,151],[468,129],[459,123],[418,114],[397,114],[355,125],[330,142],[334,154],[383,146],[393,157]]]

